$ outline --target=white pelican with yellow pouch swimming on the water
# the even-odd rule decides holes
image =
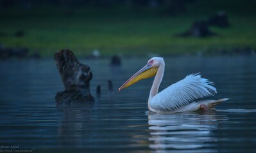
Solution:
[[[201,78],[198,73],[188,75],[183,80],[158,93],[160,83],[164,77],[164,65],[162,57],[149,59],[146,66],[129,78],[118,91],[135,84],[139,80],[155,76],[149,92],[148,109],[156,113],[196,112],[200,109],[214,108],[219,102],[228,100],[228,98],[223,98],[198,101],[200,98],[213,96],[217,93],[216,88],[212,87],[212,82]]]

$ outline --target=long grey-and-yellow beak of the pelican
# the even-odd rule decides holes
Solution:
[[[137,71],[131,78],[129,78],[119,89],[118,91],[121,91],[122,89],[129,87],[132,84],[135,84],[139,80],[150,78],[155,76],[157,73],[157,68],[154,68],[152,65],[146,64],[142,69]]]

